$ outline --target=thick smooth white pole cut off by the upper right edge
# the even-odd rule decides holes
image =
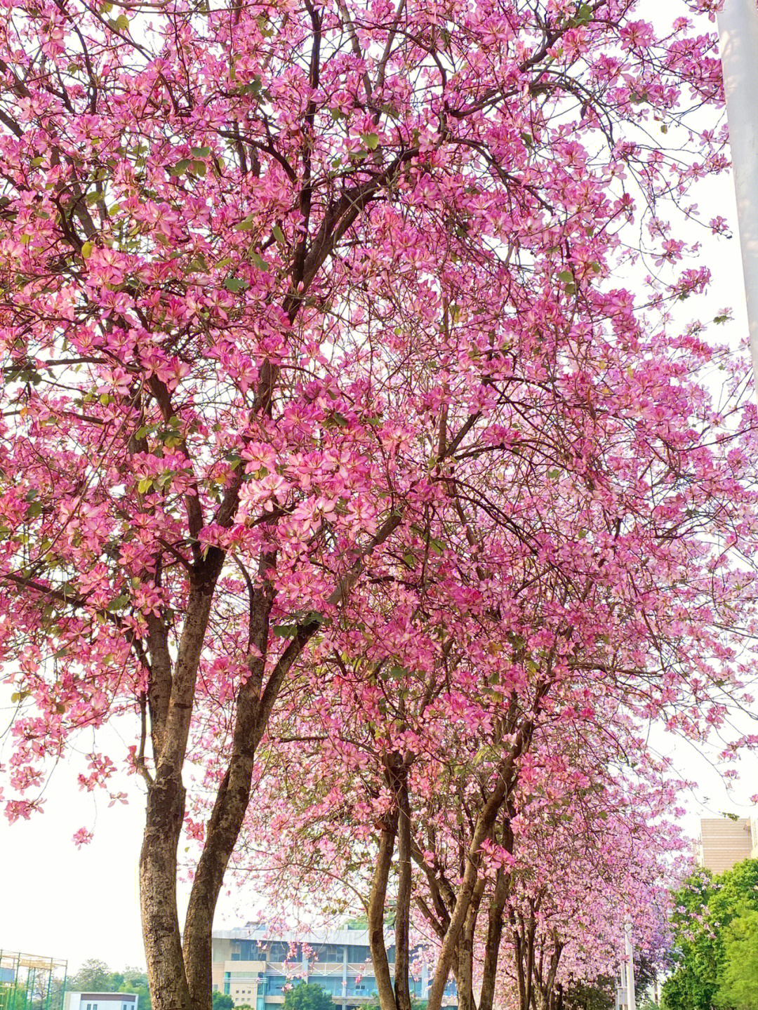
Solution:
[[[719,14],[753,379],[758,386],[758,9],[724,0]]]

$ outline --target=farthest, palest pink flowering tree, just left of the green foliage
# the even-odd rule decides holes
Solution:
[[[618,974],[627,924],[646,964],[662,963],[669,888],[690,862],[676,858],[683,843],[663,819],[670,787],[597,785],[522,837],[504,955],[522,1010],[557,1008],[572,980]]]

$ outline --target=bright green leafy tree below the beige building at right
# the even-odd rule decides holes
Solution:
[[[737,920],[753,912],[758,912],[758,860],[738,863],[719,877],[699,870],[685,881],[674,896],[673,971],[663,985],[663,1010],[758,1007],[756,1001],[729,1002],[742,992],[730,974],[743,942]],[[737,988],[729,988],[729,978]]]

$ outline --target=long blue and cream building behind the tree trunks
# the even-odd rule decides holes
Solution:
[[[388,956],[392,969],[392,945]],[[280,1010],[287,987],[299,982],[318,983],[338,1010],[358,1010],[376,995],[365,929],[290,933],[256,922],[240,929],[215,931],[212,978],[214,991],[231,996],[235,1006],[249,1005],[252,1010]],[[424,968],[421,977],[411,983],[411,995],[426,998],[429,982],[428,969]],[[451,1007],[456,1003],[454,983],[449,983],[443,1005]]]

